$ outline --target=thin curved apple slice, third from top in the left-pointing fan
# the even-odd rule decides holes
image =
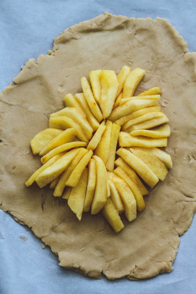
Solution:
[[[44,155],[41,158],[41,163],[42,164],[46,163],[50,158],[52,158],[53,156],[55,156],[58,153],[68,151],[69,149],[72,149],[72,148],[85,147],[85,146],[87,146],[87,143],[86,142],[81,142],[81,141],[74,141],[74,142],[63,144],[61,146],[58,146],[58,147],[54,148],[53,150],[48,152],[46,155]]]

